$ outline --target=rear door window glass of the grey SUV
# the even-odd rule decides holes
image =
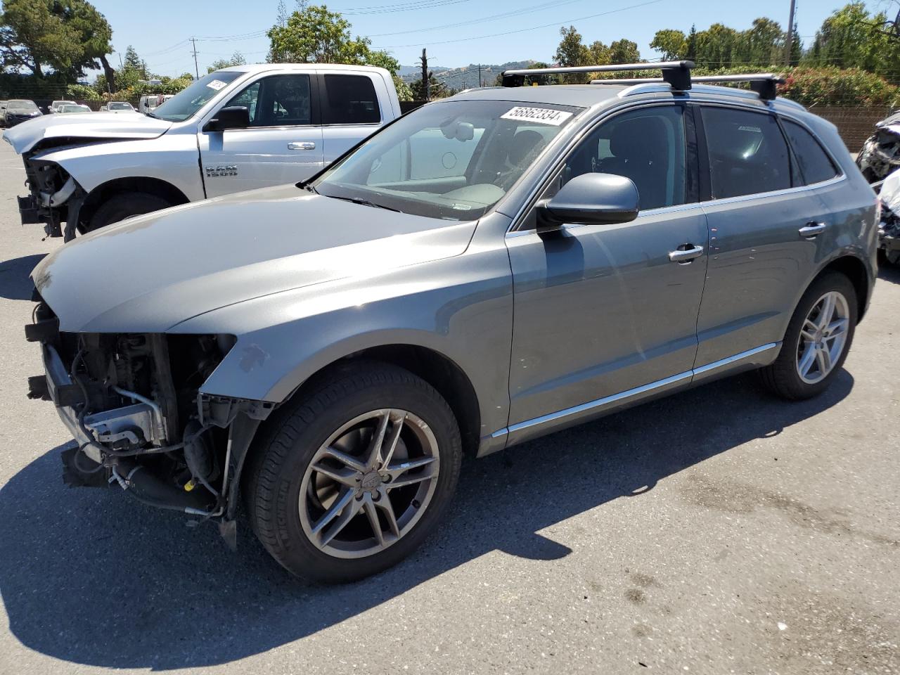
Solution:
[[[703,108],[713,199],[791,186],[788,144],[770,114]]]

